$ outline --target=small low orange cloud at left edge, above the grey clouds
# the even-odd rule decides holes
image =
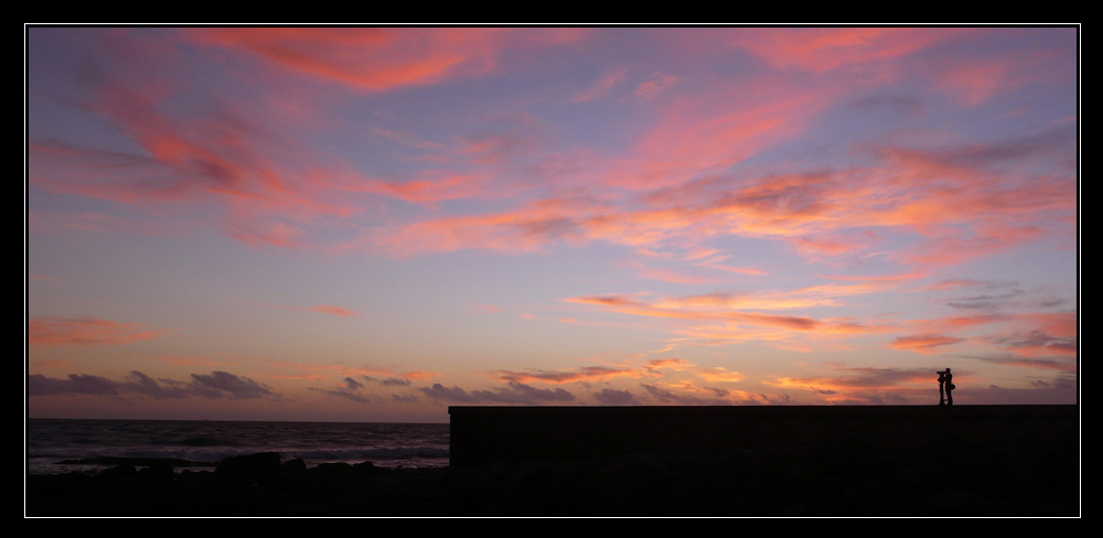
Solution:
[[[120,345],[159,338],[175,330],[142,331],[141,323],[118,323],[97,318],[43,316],[26,324],[28,345]]]

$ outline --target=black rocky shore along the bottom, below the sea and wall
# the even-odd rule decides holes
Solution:
[[[121,462],[97,475],[28,477],[28,516],[1078,516],[1079,462],[998,450],[906,458],[825,451],[685,460],[382,469],[224,460]],[[947,462],[950,462],[947,464]],[[139,469],[136,463],[143,465]]]

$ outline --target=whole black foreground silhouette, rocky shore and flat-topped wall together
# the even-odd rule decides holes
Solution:
[[[120,460],[30,516],[1079,516],[1075,406],[453,407],[447,467]],[[85,462],[95,463],[95,462]],[[207,464],[207,469],[211,465]]]

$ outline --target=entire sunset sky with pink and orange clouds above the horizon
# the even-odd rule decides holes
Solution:
[[[1077,402],[1077,28],[25,43],[29,417]]]

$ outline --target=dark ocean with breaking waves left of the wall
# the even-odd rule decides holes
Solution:
[[[28,474],[111,466],[58,464],[98,456],[217,463],[257,452],[279,452],[281,461],[301,458],[308,467],[364,461],[383,467],[448,465],[447,423],[28,419],[25,435]]]

